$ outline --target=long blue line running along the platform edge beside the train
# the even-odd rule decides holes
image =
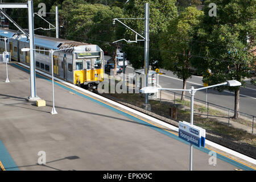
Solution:
[[[14,65],[15,65],[15,67],[21,68],[21,69],[23,69],[24,71],[29,72],[28,69],[25,69],[25,68],[23,68],[23,67],[20,67],[19,65],[16,65],[16,64],[14,64]],[[38,76],[38,77],[40,77],[40,78],[43,78],[44,80],[48,80],[48,81],[51,82],[51,80],[50,80],[49,78],[43,77],[43,76],[41,76],[41,75],[38,75],[37,73],[36,73],[36,76]],[[142,119],[139,119],[139,118],[137,118],[137,117],[134,117],[133,115],[130,115],[130,114],[127,114],[127,113],[125,113],[125,112],[123,112],[123,111],[121,111],[121,110],[115,109],[114,107],[109,106],[109,105],[107,105],[107,104],[104,104],[104,103],[101,102],[101,101],[95,100],[94,98],[85,96],[84,94],[82,94],[82,93],[80,93],[80,92],[77,92],[76,90],[73,90],[73,89],[71,89],[71,88],[68,88],[67,86],[61,85],[61,84],[59,84],[59,83],[57,83],[57,82],[55,82],[54,84],[60,86],[61,88],[66,89],[66,90],[68,90],[68,91],[70,91],[70,92],[72,92],[72,93],[75,93],[75,94],[77,94],[77,95],[79,95],[79,96],[81,96],[81,97],[84,97],[84,98],[86,98],[86,99],[88,99],[88,100],[90,100],[90,101],[96,102],[97,104],[100,104],[101,106],[107,107],[108,109],[113,110],[113,111],[115,111],[115,112],[117,112],[117,113],[119,113],[119,114],[122,114],[122,115],[124,115],[124,116],[127,117],[127,118],[133,119],[134,121],[136,121],[136,122],[138,122],[138,123],[141,123],[141,124],[143,124],[143,125],[145,125],[145,126],[148,126],[148,127],[150,127],[151,129],[153,129],[153,130],[155,130],[155,131],[158,131],[158,132],[160,132],[160,133],[162,133],[162,134],[164,134],[164,135],[167,135],[168,137],[174,138],[174,139],[179,140],[180,142],[183,142],[183,143],[188,144],[188,145],[190,144],[190,143],[188,143],[188,142],[185,142],[185,140],[180,139],[177,135],[172,134],[172,133],[169,133],[168,131],[163,130],[163,129],[159,128],[159,127],[156,127],[156,126],[154,126],[154,125],[151,125],[150,123],[147,123],[147,122],[143,121]],[[193,147],[196,148],[197,150],[203,151],[203,152],[205,152],[205,153],[207,153],[207,154],[209,154],[209,152],[210,152],[209,149],[204,148],[204,147],[196,147],[196,146],[193,146]],[[250,167],[248,167],[248,166],[245,166],[245,165],[243,165],[243,164],[241,164],[241,163],[239,163],[239,162],[236,162],[235,160],[232,160],[232,159],[230,159],[230,158],[227,158],[226,156],[223,156],[223,155],[221,155],[221,154],[217,154],[217,158],[218,158],[218,159],[221,159],[221,160],[223,160],[223,161],[225,161],[225,162],[227,162],[227,163],[229,163],[229,164],[232,164],[233,166],[236,166],[236,167],[238,167],[238,168],[240,168],[240,169],[243,169],[243,170],[245,170],[245,171],[255,171],[255,169],[250,168]]]

